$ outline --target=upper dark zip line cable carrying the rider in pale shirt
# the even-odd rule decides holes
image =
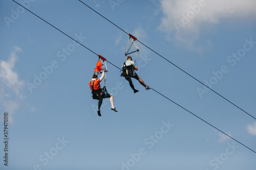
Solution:
[[[80,0],[78,0],[80,1]],[[125,32],[123,29],[121,29],[120,27],[118,27],[117,25],[115,25],[115,23],[113,23],[112,21],[110,21],[109,19],[105,18],[103,15],[101,15],[100,13],[98,13],[97,11],[95,11],[94,9],[92,9],[90,6],[88,6],[87,4],[83,3],[82,1],[80,1],[82,4],[86,5],[88,8],[90,8],[91,10],[93,10],[94,12],[96,12],[97,14],[99,14],[101,17],[103,17],[104,19],[108,20],[109,22],[111,22],[114,26],[116,26],[117,28],[119,28],[120,30],[122,30],[124,33],[128,34],[127,32]],[[232,104],[233,106],[237,107],[238,109],[242,110],[244,113],[248,114],[249,116],[251,116],[252,118],[254,118],[256,120],[255,117],[253,117],[251,114],[247,113],[245,110],[243,110],[242,108],[240,108],[239,106],[237,106],[236,104],[232,103],[231,101],[229,101],[228,99],[226,99],[224,96],[222,96],[221,94],[219,94],[218,92],[216,92],[215,90],[212,90],[211,88],[209,88],[208,86],[206,86],[205,84],[203,84],[201,81],[199,81],[198,79],[196,79],[194,76],[191,76],[190,74],[188,74],[188,72],[186,72],[185,70],[183,70],[182,68],[180,68],[179,66],[177,66],[176,64],[174,64],[173,62],[169,61],[168,59],[166,59],[165,57],[163,57],[162,55],[160,55],[159,53],[157,53],[156,51],[154,51],[152,48],[148,47],[147,45],[145,45],[144,43],[142,43],[141,41],[137,40],[138,42],[140,42],[142,45],[144,45],[145,47],[147,47],[148,49],[150,49],[152,52],[156,53],[158,56],[162,57],[164,60],[166,60],[167,62],[169,62],[170,64],[173,64],[175,67],[177,67],[178,69],[180,69],[181,71],[183,71],[185,74],[187,74],[188,76],[190,76],[191,78],[193,78],[194,80],[196,80],[197,82],[201,83],[202,85],[204,85],[205,87],[207,87],[208,89],[210,89],[211,91],[215,92],[216,94],[218,94],[219,96],[221,96],[221,98],[225,99],[227,102],[229,102],[230,104]]]

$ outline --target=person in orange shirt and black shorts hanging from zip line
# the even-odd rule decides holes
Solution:
[[[102,104],[103,99],[105,99],[105,98],[110,98],[111,110],[114,110],[115,112],[117,112],[116,108],[114,107],[113,95],[111,93],[108,93],[108,92],[103,92],[102,89],[100,88],[99,83],[104,78],[104,72],[105,71],[102,72],[102,75],[99,79],[98,79],[97,75],[93,75],[93,79],[89,82],[89,86],[90,86],[92,94],[93,94],[93,99],[99,100],[98,110],[97,110],[99,116],[101,116],[100,106]]]

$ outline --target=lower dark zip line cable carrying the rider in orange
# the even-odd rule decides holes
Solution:
[[[14,0],[12,0],[13,2],[15,2]],[[57,29],[56,27],[54,27],[53,25],[51,25],[51,23],[47,22],[46,20],[42,19],[41,17],[39,17],[38,15],[36,15],[35,13],[31,12],[30,10],[28,10],[27,8],[25,8],[24,6],[20,5],[19,3],[15,2],[16,4],[18,4],[19,6],[23,7],[24,9],[26,9],[27,11],[29,11],[30,13],[32,13],[33,15],[37,16],[38,18],[40,18],[41,20],[45,21],[46,23],[48,23],[50,26],[52,26],[53,28],[55,28],[56,30],[58,30],[59,32],[61,32],[62,34],[68,36],[69,38],[71,38],[72,40],[76,41],[75,39],[73,39],[72,37],[70,37],[69,35],[67,35],[66,33],[60,31],[59,29]],[[80,42],[76,41],[77,43],[79,43],[80,45],[82,45]],[[92,50],[90,50],[90,48],[82,45],[83,47],[87,48],[87,50],[89,50],[90,52],[94,53],[95,55],[97,55],[95,52],[93,52]],[[98,56],[98,55],[97,55]],[[109,61],[108,61],[109,62]],[[109,62],[110,64],[112,64],[111,62]],[[117,67],[116,65],[112,64],[113,66],[115,66],[116,68],[122,70],[121,68]],[[252,149],[250,149],[249,147],[247,147],[245,144],[241,143],[240,141],[234,139],[233,137],[231,137],[230,135],[224,133],[223,131],[221,131],[220,129],[216,128],[215,126],[211,125],[210,123],[206,122],[204,119],[200,118],[199,116],[197,116],[196,114],[190,112],[189,110],[187,110],[186,108],[182,107],[181,105],[179,105],[178,103],[170,100],[169,98],[167,98],[165,95],[161,94],[160,92],[158,92],[157,90],[151,88],[152,90],[154,90],[155,92],[157,92],[158,94],[162,95],[164,98],[166,98],[167,100],[169,100],[170,102],[173,102],[174,104],[176,104],[177,106],[181,107],[182,109],[186,110],[187,112],[189,112],[190,114],[193,114],[194,116],[196,116],[197,118],[199,118],[200,120],[202,120],[203,122],[205,122],[206,124],[210,125],[211,127],[217,129],[218,131],[220,131],[221,133],[225,134],[226,136],[230,137],[231,139],[233,139],[234,141],[237,141],[238,143],[240,143],[241,145],[243,145],[245,148],[251,150],[252,152],[256,153],[255,151],[253,151]]]

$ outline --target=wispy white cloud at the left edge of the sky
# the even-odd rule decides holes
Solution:
[[[12,69],[17,61],[16,53],[22,51],[19,47],[15,46],[9,55],[8,61],[0,61],[0,80],[3,85],[13,90],[16,95],[19,95],[19,89],[24,86],[23,81],[18,80],[18,74]],[[21,95],[19,95],[22,98]]]

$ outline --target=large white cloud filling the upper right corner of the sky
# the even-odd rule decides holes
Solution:
[[[164,14],[158,29],[167,33],[167,39],[185,43],[188,47],[200,37],[200,32],[222,19],[254,19],[255,0],[160,0]],[[175,33],[174,36],[170,36]]]

